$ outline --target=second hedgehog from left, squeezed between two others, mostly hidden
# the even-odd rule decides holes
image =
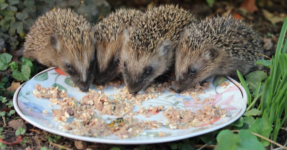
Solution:
[[[94,25],[97,65],[95,82],[104,84],[120,73],[119,56],[123,44],[123,31],[138,22],[143,12],[135,9],[118,9]]]

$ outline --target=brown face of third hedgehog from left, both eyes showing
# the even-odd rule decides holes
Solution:
[[[129,32],[125,30],[125,33]],[[129,93],[135,95],[170,67],[174,52],[171,42],[165,39],[159,39],[152,53],[135,53],[127,43],[129,39],[123,45],[120,69]]]

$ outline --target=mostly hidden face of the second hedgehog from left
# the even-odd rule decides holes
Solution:
[[[121,38],[116,41],[98,41],[96,44],[97,66],[95,75],[96,84],[104,84],[114,80],[120,73],[119,55],[122,46]]]

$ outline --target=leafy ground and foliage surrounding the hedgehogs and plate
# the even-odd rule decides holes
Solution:
[[[254,149],[256,147],[262,148],[263,146],[273,149],[277,146],[274,144],[270,145],[268,141],[257,138],[251,132],[259,133],[272,139],[272,135],[274,136],[272,130],[274,131],[275,127],[271,126],[272,123],[270,122],[274,122],[274,120],[275,123],[273,125],[278,126],[278,123],[276,125],[278,120],[279,122],[282,121],[279,124],[283,125],[282,128],[280,128],[281,126],[276,128],[278,129],[276,133],[279,133],[276,142],[286,145],[287,129],[286,121],[284,121],[286,109],[281,113],[276,113],[277,116],[274,119],[272,118],[273,116],[269,116],[271,105],[270,107],[266,105],[264,108],[259,106],[265,79],[267,75],[270,75],[271,61],[259,61],[258,64],[267,66],[263,71],[250,74],[245,79],[241,78],[241,82],[247,83],[246,89],[251,92],[248,103],[249,112],[245,113],[243,117],[232,125],[224,128],[227,130],[220,129],[181,141],[124,146],[76,142],[73,139],[53,135],[35,128],[15,113],[11,99],[17,87],[39,71],[46,69],[45,66],[38,64],[36,61],[22,57],[24,37],[37,16],[53,8],[69,7],[84,15],[90,22],[96,23],[110,11],[120,7],[133,7],[144,11],[152,6],[164,3],[179,4],[183,8],[189,9],[198,19],[205,19],[205,17],[211,17],[216,14],[232,14],[234,18],[243,19],[247,23],[253,24],[254,29],[260,35],[265,54],[269,57],[275,54],[282,23],[287,16],[287,2],[284,0],[0,0],[0,116],[2,117],[0,120],[0,138],[11,142],[17,141],[19,135],[22,136],[21,142],[16,142],[16,145],[13,146],[6,145],[0,141],[0,148],[44,150],[59,149],[59,147],[75,149],[75,146],[77,146],[77,149],[80,149],[79,146],[82,145],[84,148],[113,150],[198,149],[203,146],[203,149],[213,149],[217,145],[217,149],[224,149],[224,147],[229,147],[230,149],[232,149],[231,147],[234,147],[234,149],[235,147],[239,149]],[[284,54],[282,53],[281,55]],[[266,59],[268,60],[268,58]],[[277,67],[276,64],[274,66],[273,69],[276,68],[274,70],[279,69],[278,64]],[[280,75],[283,76],[283,74]],[[255,80],[252,79],[255,76],[257,78]],[[267,80],[271,80],[271,78],[269,76]],[[272,92],[276,94],[278,91]],[[263,98],[267,101],[266,97]],[[270,120],[270,118],[272,119]],[[17,122],[18,126],[12,127],[9,125],[11,121],[17,121],[17,119],[19,121]],[[235,134],[235,130],[240,131],[238,131],[238,134]]]

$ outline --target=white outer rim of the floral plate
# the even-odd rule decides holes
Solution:
[[[41,71],[40,73],[36,74],[34,77],[53,70],[57,67],[51,67],[48,69],[45,69],[43,71]],[[31,79],[33,79],[34,77],[32,77]],[[228,78],[228,80],[230,80],[232,83],[234,83],[241,91],[242,93],[242,97],[243,100],[245,101],[245,103],[247,103],[247,93],[244,90],[243,86],[236,81],[234,79],[232,79],[231,77],[226,77]],[[30,79],[30,80],[31,80]],[[20,115],[20,117],[22,119],[24,119],[25,121],[27,121],[28,123],[34,125],[35,127],[42,129],[44,131],[53,133],[53,134],[57,134],[63,137],[67,137],[67,138],[71,138],[71,139],[76,139],[76,140],[81,140],[81,141],[88,141],[88,142],[94,142],[94,143],[106,143],[106,144],[119,144],[119,145],[138,145],[138,144],[154,144],[154,143],[164,143],[164,142],[170,142],[170,141],[177,141],[177,140],[182,140],[182,139],[187,139],[190,137],[196,137],[198,135],[203,135],[205,133],[209,133],[218,129],[221,129],[223,127],[226,127],[228,125],[230,125],[231,123],[233,123],[234,121],[236,121],[238,118],[240,118],[243,113],[245,112],[246,107],[244,107],[243,109],[240,110],[240,112],[232,119],[230,119],[229,121],[227,121],[226,123],[223,123],[221,125],[218,125],[216,127],[213,127],[211,129],[206,129],[206,130],[202,130],[202,131],[197,131],[195,133],[191,133],[192,136],[190,134],[187,135],[181,135],[181,136],[176,136],[176,137],[166,137],[166,138],[160,138],[160,139],[144,139],[144,140],[129,140],[129,139],[100,139],[97,137],[87,137],[87,136],[79,136],[79,135],[73,135],[71,133],[67,133],[67,132],[63,132],[63,131],[58,131],[55,129],[51,129],[48,127],[43,127],[42,125],[40,125],[37,122],[34,122],[33,120],[30,120],[28,117],[26,117],[26,115],[24,115],[24,113],[21,111],[20,107],[18,106],[18,94],[19,91],[22,89],[22,87],[27,83],[27,81],[25,83],[23,83],[20,87],[18,87],[18,89],[15,91],[14,95],[13,95],[13,105],[14,105],[14,109],[15,111],[18,113],[18,115]],[[238,86],[239,85],[239,86]],[[212,130],[212,131],[211,131]]]

